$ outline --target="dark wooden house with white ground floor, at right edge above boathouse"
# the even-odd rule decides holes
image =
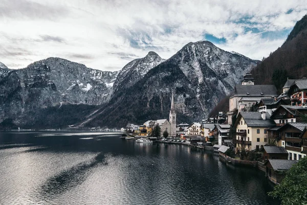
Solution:
[[[303,122],[288,122],[286,125],[278,129],[281,146],[289,152],[290,160],[299,160],[305,157],[302,153],[302,132],[307,127],[307,123]]]

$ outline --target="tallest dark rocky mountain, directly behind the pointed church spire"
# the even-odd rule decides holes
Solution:
[[[134,85],[117,89],[108,104],[82,126],[120,127],[128,122],[142,124],[148,119],[168,118],[172,91],[178,122],[200,120],[257,63],[207,41],[189,43]]]

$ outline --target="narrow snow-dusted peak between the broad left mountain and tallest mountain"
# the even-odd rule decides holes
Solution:
[[[165,59],[162,59],[157,53],[150,51],[145,57],[135,59],[125,65],[119,72],[108,99],[111,99],[113,94],[119,90],[127,89],[136,84],[150,69],[164,61]]]

